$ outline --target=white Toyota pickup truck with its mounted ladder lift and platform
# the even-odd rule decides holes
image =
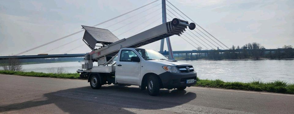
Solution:
[[[192,65],[168,60],[154,50],[137,48],[172,35],[180,35],[194,23],[177,18],[149,30],[119,40],[109,30],[82,26],[83,41],[92,49],[85,55],[81,78],[88,79],[93,89],[104,84],[137,85],[147,87],[150,95],[159,94],[161,88],[184,90],[196,83],[197,73]],[[96,49],[96,43],[103,46]],[[97,62],[98,66],[93,66]]]

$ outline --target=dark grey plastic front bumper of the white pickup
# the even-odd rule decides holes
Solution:
[[[197,73],[170,73],[164,72],[158,75],[162,81],[163,88],[172,89],[196,84]],[[186,80],[194,79],[194,83],[186,84]]]

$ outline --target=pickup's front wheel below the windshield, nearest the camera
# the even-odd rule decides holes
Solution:
[[[156,76],[152,75],[148,77],[147,91],[149,95],[156,96],[159,94],[159,83],[160,81]]]

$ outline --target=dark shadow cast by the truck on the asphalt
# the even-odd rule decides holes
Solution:
[[[53,103],[58,106],[59,109],[62,109],[63,112],[68,113],[99,112],[108,107],[114,108],[113,106],[119,107],[119,109],[116,108],[117,110],[112,110],[113,113],[117,113],[116,111],[119,111],[119,113],[132,113],[122,108],[135,110],[164,109],[185,104],[196,98],[195,93],[185,90],[160,90],[160,95],[150,96],[146,90],[141,91],[139,87],[118,85],[103,86],[99,90],[94,90],[91,87],[72,88],[46,93],[43,96],[43,98],[22,103],[2,105],[0,106],[0,112],[26,109]],[[95,105],[100,106],[98,107]]]

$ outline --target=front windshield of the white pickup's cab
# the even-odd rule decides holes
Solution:
[[[136,49],[136,51],[145,59],[145,60],[167,60],[165,56],[156,52],[154,50],[146,50],[146,49]]]

